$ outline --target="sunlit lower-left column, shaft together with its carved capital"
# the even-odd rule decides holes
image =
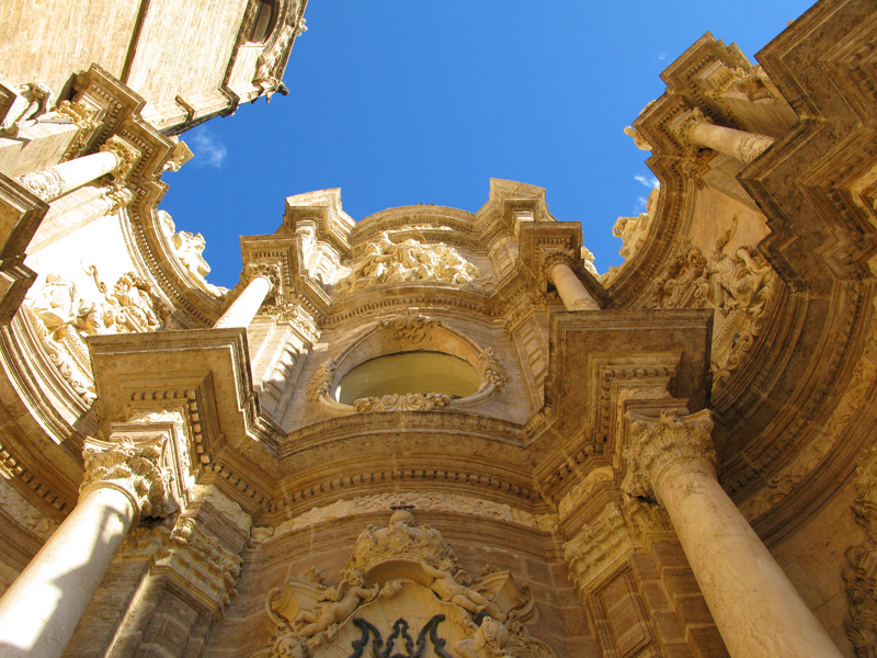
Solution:
[[[79,503],[0,599],[5,658],[61,656],[127,532],[168,511],[160,444],[103,443],[84,456]]]

